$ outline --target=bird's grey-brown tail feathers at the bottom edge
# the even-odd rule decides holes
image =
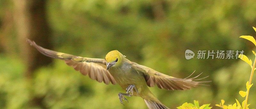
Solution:
[[[157,103],[152,100],[144,99],[146,105],[148,106],[148,109],[170,109],[166,106],[164,106],[162,103]]]

